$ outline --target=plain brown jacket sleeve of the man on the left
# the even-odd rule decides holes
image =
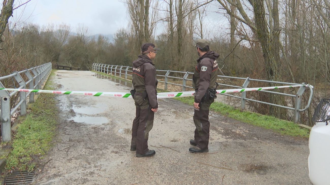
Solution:
[[[151,105],[151,108],[153,109],[158,108],[155,76],[156,76],[156,68],[154,68],[153,66],[146,66],[145,69],[146,91],[148,94],[149,103]]]

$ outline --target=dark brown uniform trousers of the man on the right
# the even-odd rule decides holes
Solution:
[[[195,142],[200,149],[206,149],[209,146],[210,137],[210,121],[209,111],[210,105],[214,102],[214,99],[208,99],[199,103],[199,110],[195,109],[194,123],[195,129]]]

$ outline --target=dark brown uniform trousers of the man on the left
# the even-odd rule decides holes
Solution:
[[[154,112],[151,111],[148,97],[144,99],[143,93],[136,92],[134,101],[136,117],[133,120],[131,146],[136,145],[136,153],[145,154],[149,151],[148,138],[153,126]]]

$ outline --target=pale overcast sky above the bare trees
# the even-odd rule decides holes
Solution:
[[[15,6],[27,0],[16,0]],[[78,24],[88,27],[90,35],[114,34],[120,28],[127,28],[128,17],[126,7],[122,0],[31,0],[26,6],[14,11],[12,21],[32,22],[39,25],[48,23],[67,23],[76,32]],[[161,3],[161,1],[159,1]],[[202,2],[202,0],[201,0]],[[227,32],[225,30],[226,18],[218,11],[219,4],[212,3],[207,6],[208,13],[204,19],[204,32]],[[162,32],[164,25],[158,24],[155,35]]]

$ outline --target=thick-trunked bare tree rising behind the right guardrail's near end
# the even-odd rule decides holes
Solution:
[[[241,4],[241,0],[236,0],[234,3],[231,0],[218,0],[221,6],[226,10],[226,12],[234,16],[237,20],[246,24],[253,33],[257,36],[261,44],[261,48],[264,55],[267,79],[270,81],[281,81],[281,71],[280,71],[280,22],[279,22],[279,2],[278,0],[273,0],[272,4],[270,1],[266,0],[266,5],[268,9],[268,19],[266,18],[266,9],[264,5],[264,0],[249,0],[249,3],[253,9],[254,22],[246,13],[245,9]],[[235,6],[240,13],[240,16],[236,15],[232,11],[231,6]],[[284,100],[275,94],[270,94],[270,103],[283,104]],[[286,116],[284,110],[271,106],[270,114],[283,118]]]

